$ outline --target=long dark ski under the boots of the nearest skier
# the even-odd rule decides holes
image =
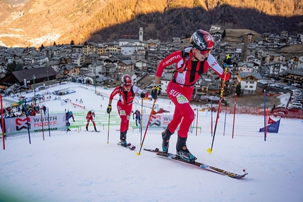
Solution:
[[[187,160],[183,160],[183,158],[180,158],[180,156],[178,156],[178,154],[164,153],[163,151],[159,151],[158,148],[156,148],[156,149],[144,149],[144,150],[154,152],[154,153],[156,153],[157,156],[162,156],[162,157],[170,158],[172,160],[178,160],[178,161],[181,161],[183,163],[188,163],[190,165],[195,165],[199,168],[203,168],[204,170],[209,170],[209,171],[212,171],[212,172],[216,172],[218,174],[225,175],[225,176],[228,176],[228,177],[231,177],[231,178],[234,178],[234,179],[241,179],[242,177],[245,177],[245,175],[248,174],[247,172],[245,172],[245,170],[243,170],[243,172],[245,172],[245,174],[238,175],[238,174],[235,174],[233,172],[228,172],[228,171],[225,171],[225,170],[222,170],[222,169],[219,169],[219,168],[215,168],[214,166],[211,166],[211,165],[206,165],[204,163],[199,163],[197,161],[194,161],[193,163],[190,163]]]

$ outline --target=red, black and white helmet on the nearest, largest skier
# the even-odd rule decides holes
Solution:
[[[214,47],[214,39],[211,37],[209,32],[197,30],[192,34],[192,37],[190,37],[190,44],[192,44],[192,47],[199,49],[200,51],[211,50]]]

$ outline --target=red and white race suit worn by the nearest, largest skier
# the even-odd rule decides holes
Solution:
[[[175,112],[173,120],[171,120],[168,130],[175,132],[180,124],[178,135],[180,137],[187,137],[190,125],[194,120],[194,111],[190,106],[190,99],[194,84],[199,80],[200,76],[204,74],[209,68],[214,70],[216,74],[224,79],[224,70],[218,65],[218,62],[209,54],[204,61],[192,61],[192,49],[187,49],[187,57],[183,58],[182,51],[175,51],[164,58],[158,66],[156,76],[161,77],[164,68],[175,63],[176,72],[173,74],[173,79],[168,82],[166,93],[175,104]],[[225,75],[225,80],[229,80],[230,73]]]

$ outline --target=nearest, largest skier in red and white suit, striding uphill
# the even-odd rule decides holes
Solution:
[[[214,47],[214,39],[211,34],[204,30],[197,30],[192,34],[190,44],[192,46],[183,51],[171,53],[159,63],[152,89],[152,98],[156,99],[161,93],[159,84],[164,68],[175,63],[176,70],[166,89],[168,98],[175,104],[175,112],[173,120],[162,132],[162,149],[163,152],[168,152],[169,139],[180,125],[176,144],[177,153],[184,160],[193,162],[197,158],[187,149],[186,141],[187,132],[194,120],[194,111],[190,106],[194,84],[209,68],[214,70],[222,80],[224,77],[225,80],[229,80],[230,72],[225,75],[224,70],[218,65],[218,61],[211,55],[211,49]],[[223,66],[225,67],[225,64]]]

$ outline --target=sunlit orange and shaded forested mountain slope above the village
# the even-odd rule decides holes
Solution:
[[[6,46],[117,41],[124,34],[137,35],[140,26],[144,39],[161,41],[213,24],[260,33],[303,31],[299,0],[30,0],[14,10],[0,2],[6,2],[0,4],[5,17],[0,15],[0,44]]]

